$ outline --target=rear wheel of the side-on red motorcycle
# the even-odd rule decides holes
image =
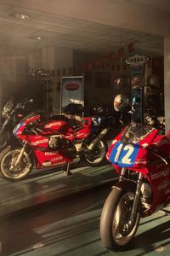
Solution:
[[[107,153],[107,143],[103,140],[100,140],[96,144],[92,151],[87,150],[83,155],[83,160],[87,166],[100,166],[106,162],[106,153]]]

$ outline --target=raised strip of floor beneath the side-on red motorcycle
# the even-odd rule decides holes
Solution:
[[[111,165],[71,167],[65,176],[61,167],[53,170],[33,170],[24,180],[11,183],[0,177],[0,216],[60,197],[69,197],[117,177]]]

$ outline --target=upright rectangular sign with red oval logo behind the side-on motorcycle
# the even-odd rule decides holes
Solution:
[[[60,102],[60,113],[62,113],[62,108],[71,103],[84,106],[83,76],[62,77]]]

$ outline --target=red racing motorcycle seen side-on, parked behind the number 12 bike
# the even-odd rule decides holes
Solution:
[[[55,117],[56,118],[56,117]],[[71,119],[41,122],[41,116],[30,113],[14,128],[18,147],[8,146],[0,154],[2,177],[16,181],[26,177],[34,164],[37,169],[69,165],[79,158],[88,166],[99,166],[105,161],[107,143],[104,140],[109,127],[101,127],[101,118],[84,118],[82,125],[71,125]],[[99,132],[95,132],[99,131]],[[67,169],[69,174],[69,169]]]

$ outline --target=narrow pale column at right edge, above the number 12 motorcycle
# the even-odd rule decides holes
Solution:
[[[165,129],[170,129],[170,38],[164,38]]]

